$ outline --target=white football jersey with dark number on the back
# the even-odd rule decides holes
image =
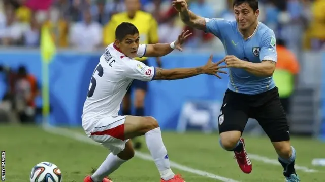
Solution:
[[[141,44],[137,57],[142,57],[145,51],[146,45]],[[133,79],[151,81],[154,73],[154,67],[126,57],[113,43],[108,45],[91,77],[83,107],[83,126],[104,117],[118,116],[120,104]]]

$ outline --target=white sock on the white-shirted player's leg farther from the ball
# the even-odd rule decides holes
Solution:
[[[175,174],[173,173],[170,167],[167,150],[164,145],[163,138],[161,138],[160,128],[158,127],[148,131],[145,134],[145,138],[154,163],[156,164],[159,170],[161,179],[172,179]]]

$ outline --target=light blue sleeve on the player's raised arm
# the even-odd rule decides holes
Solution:
[[[222,37],[224,31],[230,31],[231,22],[221,18],[204,18],[206,22],[205,32],[212,33],[218,38]]]

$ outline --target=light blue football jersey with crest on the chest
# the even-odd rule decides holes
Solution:
[[[206,32],[214,34],[222,41],[226,55],[234,55],[252,63],[260,63],[262,60],[277,61],[276,38],[273,30],[265,24],[259,22],[253,35],[244,40],[236,21],[217,18],[205,20]],[[254,95],[275,87],[272,76],[258,77],[244,69],[229,68],[229,77],[228,88],[237,93]]]

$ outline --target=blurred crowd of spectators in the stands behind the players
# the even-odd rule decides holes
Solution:
[[[137,8],[136,1],[3,0],[0,2],[1,44],[38,47],[40,28],[47,26],[57,47],[105,47],[112,16]],[[170,6],[170,0],[140,0],[140,3],[139,8],[151,13],[158,23],[159,42],[173,41],[186,29]],[[259,3],[259,20],[272,28],[290,50],[325,49],[325,31],[319,31],[325,29],[325,1],[261,0]],[[234,20],[231,0],[188,0],[188,4],[200,16]],[[221,43],[214,36],[194,34],[188,46],[220,49]]]

